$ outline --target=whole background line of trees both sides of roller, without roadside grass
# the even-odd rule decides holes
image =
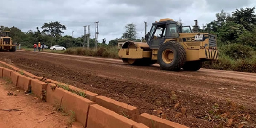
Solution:
[[[41,31],[39,27],[36,27],[36,31],[29,30],[28,32],[22,32],[15,26],[10,28],[0,26],[0,30],[9,30],[13,42],[17,42],[23,47],[32,47],[32,44],[38,42],[48,46],[61,45],[67,48],[83,46],[84,35],[78,38],[73,38],[70,35],[62,36],[61,34],[64,33],[63,30],[67,28],[58,21],[44,23],[40,28],[42,29]],[[123,38],[138,42],[143,41],[143,38],[137,38],[137,29],[134,23],[128,23],[125,29],[125,32],[120,38],[109,41],[108,45],[116,46],[117,41]],[[236,9],[232,14],[222,10],[216,14],[215,20],[199,28],[199,31],[216,34],[218,48],[228,56],[234,59],[251,57],[253,55],[251,52],[256,50],[255,7]],[[94,47],[94,42],[95,40],[90,38],[90,47]],[[87,43],[87,40],[85,43]],[[98,43],[98,45],[107,44],[104,42]]]

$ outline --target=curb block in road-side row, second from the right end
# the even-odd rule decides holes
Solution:
[[[136,107],[118,102],[105,96],[96,96],[96,103],[118,113],[119,115],[131,117],[132,120],[135,119],[135,115],[139,115],[139,111]]]

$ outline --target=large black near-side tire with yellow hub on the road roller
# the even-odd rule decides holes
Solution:
[[[160,46],[157,60],[161,70],[180,70],[186,62],[186,51],[180,43],[168,41]]]

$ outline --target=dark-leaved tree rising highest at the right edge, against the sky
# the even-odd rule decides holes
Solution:
[[[255,7],[253,8],[246,8],[246,9],[236,9],[233,12],[233,21],[237,24],[241,24],[247,30],[252,30],[253,25],[256,25],[256,15],[254,14]]]

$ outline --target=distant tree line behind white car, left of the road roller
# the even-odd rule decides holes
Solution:
[[[21,44],[22,47],[32,47],[34,43],[41,42],[46,44],[47,46],[52,45],[61,45],[66,48],[70,47],[82,47],[84,45],[84,35],[81,37],[73,38],[70,35],[64,35],[63,30],[66,30],[67,27],[61,24],[58,21],[44,23],[41,27],[42,30],[40,31],[39,27],[36,27],[36,31],[29,30],[27,32],[22,32],[19,28],[12,26],[0,26],[0,30],[10,31],[10,37],[12,38],[13,42],[17,44]],[[117,46],[117,41],[122,38],[128,38],[129,40],[133,41],[141,41],[140,39],[136,39],[136,25],[134,23],[130,23],[125,26],[127,29],[126,32],[123,34],[121,38],[116,38],[109,41],[109,46]],[[86,38],[88,34],[86,34]],[[94,47],[95,38],[90,38],[90,47]],[[87,44],[87,39],[85,40]],[[104,41],[102,43],[97,42],[99,46],[103,45],[106,46]]]

